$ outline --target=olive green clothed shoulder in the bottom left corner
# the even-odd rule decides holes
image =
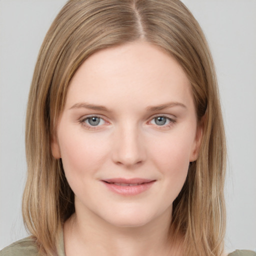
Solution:
[[[36,243],[31,236],[11,243],[0,251],[0,256],[35,256],[38,255]]]

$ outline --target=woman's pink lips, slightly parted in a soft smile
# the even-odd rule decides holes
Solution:
[[[112,192],[121,195],[137,195],[148,190],[155,179],[145,178],[109,178],[100,180]]]

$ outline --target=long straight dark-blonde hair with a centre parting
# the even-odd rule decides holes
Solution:
[[[225,136],[214,64],[196,19],[179,0],[69,0],[40,48],[26,115],[23,219],[47,255],[56,251],[61,226],[74,213],[74,194],[50,149],[69,81],[94,52],[137,40],[158,45],[183,68],[203,126],[170,226],[182,234],[183,255],[223,251]]]

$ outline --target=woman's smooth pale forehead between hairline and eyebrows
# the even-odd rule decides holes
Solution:
[[[70,81],[66,105],[85,100],[128,106],[188,99],[190,82],[177,61],[158,46],[137,41],[87,58]]]

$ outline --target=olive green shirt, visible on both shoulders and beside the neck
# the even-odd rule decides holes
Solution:
[[[0,251],[0,256],[39,256],[39,254],[34,240],[28,236],[3,248]],[[56,256],[65,256],[63,234],[61,234]],[[251,250],[235,250],[228,256],[256,256],[256,253]]]

